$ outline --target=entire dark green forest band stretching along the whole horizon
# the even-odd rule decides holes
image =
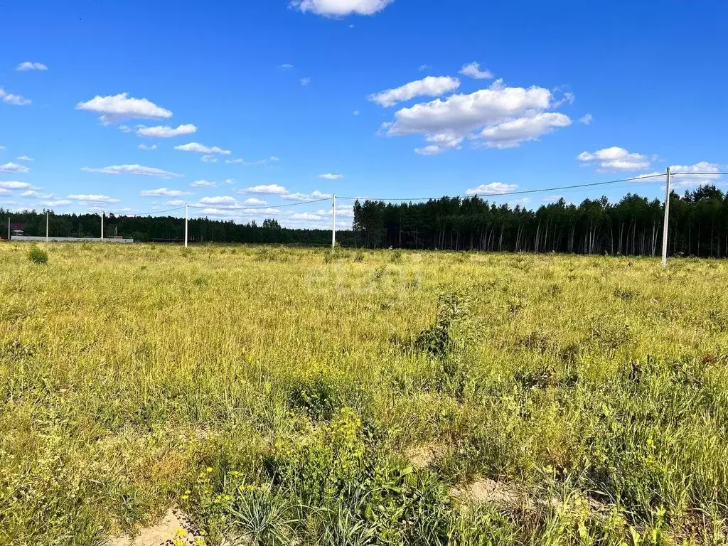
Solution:
[[[9,213],[0,208],[0,233],[7,217],[25,224],[25,234],[45,234],[45,213]],[[628,194],[618,203],[606,197],[580,205],[563,199],[537,210],[496,205],[480,197],[441,197],[427,202],[387,203],[358,200],[352,231],[339,231],[342,246],[443,250],[496,250],[654,256],[662,248],[664,209],[657,199]],[[99,237],[98,215],[50,215],[55,237]],[[172,216],[106,217],[104,234],[136,241],[181,241],[184,220]],[[199,218],[189,221],[191,242],[250,242],[330,245],[331,231],[288,229],[273,219],[261,225]],[[728,195],[700,186],[670,195],[669,251],[672,255],[728,256]]]

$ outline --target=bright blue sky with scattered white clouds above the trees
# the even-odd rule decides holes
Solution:
[[[328,202],[273,209],[728,162],[725,1],[66,4],[0,6],[0,206],[11,210],[189,202],[236,221],[328,226]],[[652,180],[518,199],[657,197]],[[676,183],[700,181],[721,182]],[[339,201],[341,226],[350,204]]]

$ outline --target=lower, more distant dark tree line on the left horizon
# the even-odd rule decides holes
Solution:
[[[10,213],[0,207],[0,234],[7,238],[7,218],[12,226],[23,224],[25,235],[45,235],[45,211]],[[98,214],[58,214],[48,218],[49,232],[53,237],[100,237],[101,219]],[[253,242],[283,243],[296,245],[331,245],[331,230],[288,229],[274,219],[266,219],[261,225],[235,223],[234,221],[199,218],[189,220],[190,242]],[[141,242],[181,242],[184,240],[184,218],[173,216],[116,216],[104,218],[104,237],[130,237]],[[351,231],[336,232],[341,245],[352,246]]]

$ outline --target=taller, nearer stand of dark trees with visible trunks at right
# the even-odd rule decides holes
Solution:
[[[367,248],[495,250],[655,256],[662,252],[664,207],[627,194],[580,205],[558,202],[536,210],[497,205],[480,197],[427,202],[357,200],[355,245]],[[670,194],[669,252],[728,256],[728,195],[713,185]]]

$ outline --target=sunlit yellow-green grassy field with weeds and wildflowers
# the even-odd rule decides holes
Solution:
[[[170,507],[206,545],[726,542],[724,261],[29,248],[0,245],[3,545]]]

